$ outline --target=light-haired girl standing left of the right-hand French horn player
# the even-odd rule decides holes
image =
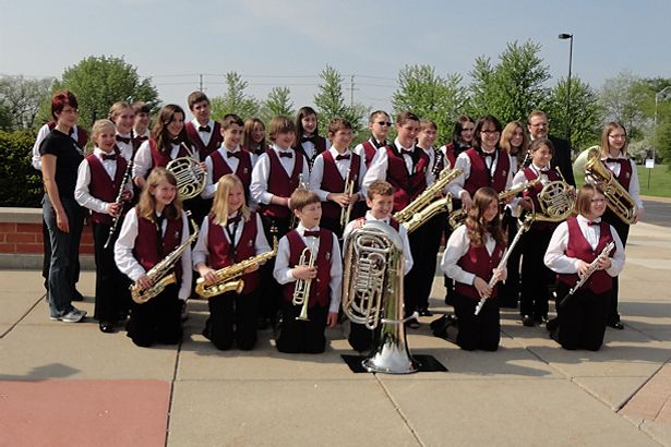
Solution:
[[[529,159],[528,148],[529,142],[524,131],[524,126],[518,121],[512,121],[503,128],[501,141],[499,145],[511,156],[513,174],[516,174],[520,169],[525,168],[525,160]],[[527,164],[528,165],[528,164]],[[508,245],[517,235],[517,219],[519,218],[519,207],[507,204],[505,206],[502,224],[504,231],[507,232]],[[501,285],[501,299],[499,300],[501,307],[517,309],[519,301],[519,265],[522,259],[522,245],[514,247],[513,253],[508,255],[507,273],[508,277],[505,283]]]

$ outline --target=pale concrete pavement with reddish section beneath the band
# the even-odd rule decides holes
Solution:
[[[432,304],[442,306],[442,278]],[[94,274],[82,307],[93,314]],[[352,374],[344,328],[322,355],[219,352],[190,302],[179,348],[50,322],[39,271],[0,271],[0,446],[671,446],[671,230],[632,227],[621,276],[625,330],[599,352],[564,351],[502,312],[498,352],[465,352],[409,329],[447,373]]]

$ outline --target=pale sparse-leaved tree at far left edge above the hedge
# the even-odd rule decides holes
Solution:
[[[0,104],[9,117],[7,130],[32,129],[39,112],[39,106],[48,100],[53,80],[26,80],[23,76],[0,78]],[[7,119],[5,119],[7,120]]]

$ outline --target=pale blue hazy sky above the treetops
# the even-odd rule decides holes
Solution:
[[[514,4],[513,5],[507,5]],[[197,4],[197,7],[196,7]],[[506,43],[542,46],[553,84],[573,73],[599,88],[622,70],[671,77],[671,2],[456,2],[0,0],[0,74],[59,76],[95,55],[123,57],[152,76],[166,102],[184,105],[203,73],[209,96],[223,74],[240,73],[260,99],[286,85],[298,108],[311,105],[325,64],[349,80],[355,100],[388,108],[398,71],[430,64],[439,74],[468,71]],[[346,92],[349,98],[349,92]]]

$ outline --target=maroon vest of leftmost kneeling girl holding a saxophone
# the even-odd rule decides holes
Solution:
[[[177,219],[167,219],[167,222],[166,232],[159,243],[156,224],[137,216],[137,237],[135,238],[133,255],[146,271],[169,255],[182,240],[182,216]],[[175,265],[175,274],[179,283],[182,277],[182,267],[179,262]]]

